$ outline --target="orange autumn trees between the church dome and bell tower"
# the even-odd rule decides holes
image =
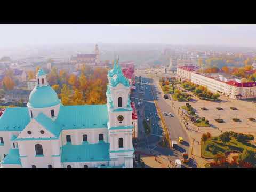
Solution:
[[[83,68],[80,75],[57,72],[52,68],[48,83],[57,92],[63,105],[104,104],[107,91],[107,69]]]

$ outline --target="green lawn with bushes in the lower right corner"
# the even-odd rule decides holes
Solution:
[[[206,150],[206,146],[209,146],[210,151]],[[213,140],[213,137],[209,138],[207,141],[201,141],[201,156],[204,158],[213,158],[215,155],[212,154],[212,147],[215,147],[217,154],[223,154],[227,151],[243,151],[244,149],[252,150],[256,152],[256,146],[248,142],[239,142],[236,138],[231,137],[230,142],[226,145],[221,140]]]

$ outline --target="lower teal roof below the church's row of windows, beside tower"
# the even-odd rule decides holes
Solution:
[[[62,146],[61,162],[110,161],[109,143]]]

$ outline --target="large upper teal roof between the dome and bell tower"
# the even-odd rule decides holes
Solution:
[[[55,122],[62,129],[107,127],[107,105],[60,106]]]

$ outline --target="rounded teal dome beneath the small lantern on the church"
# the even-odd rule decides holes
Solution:
[[[60,100],[57,93],[50,86],[36,86],[30,93],[28,107],[43,108],[58,105]]]

